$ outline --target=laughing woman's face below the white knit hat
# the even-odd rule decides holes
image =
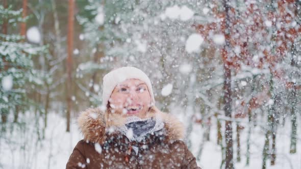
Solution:
[[[111,112],[124,117],[144,118],[150,107],[150,94],[146,84],[139,79],[128,79],[119,83],[109,99]]]

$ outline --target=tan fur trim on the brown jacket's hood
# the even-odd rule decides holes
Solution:
[[[168,141],[183,139],[184,126],[175,117],[170,114],[160,111],[153,106],[147,113],[147,118],[160,118],[164,122]],[[111,133],[112,127],[121,126],[126,122],[126,118],[116,114],[108,114],[101,108],[87,108],[80,113],[78,125],[84,135],[84,139],[88,142],[103,144],[106,140],[106,135]]]

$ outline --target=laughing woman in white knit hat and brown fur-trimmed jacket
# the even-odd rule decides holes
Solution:
[[[103,79],[103,106],[78,118],[84,139],[66,168],[199,168],[187,149],[183,126],[155,107],[147,75],[122,67]]]

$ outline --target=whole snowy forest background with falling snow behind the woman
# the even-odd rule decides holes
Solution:
[[[0,168],[64,168],[135,66],[203,169],[301,168],[301,1],[0,1]]]

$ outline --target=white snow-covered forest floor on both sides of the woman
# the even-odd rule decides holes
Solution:
[[[30,119],[30,115],[23,118]],[[82,139],[82,134],[78,130],[76,119],[72,120],[71,132],[65,131],[65,118],[59,114],[50,113],[48,115],[48,126],[45,130],[45,139],[36,142],[35,126],[32,125],[20,133],[13,133],[13,138],[0,139],[0,168],[65,168],[66,162],[74,146]],[[233,128],[235,125],[233,124]],[[260,126],[252,128],[251,135],[251,155],[250,164],[245,166],[246,158],[246,138],[247,128],[241,133],[241,162],[235,162],[235,168],[261,168],[262,149],[264,144],[263,130]],[[192,153],[196,155],[202,144],[203,131],[201,125],[193,125],[191,134]],[[300,131],[298,131],[300,133]],[[23,133],[23,134],[22,134]],[[236,132],[234,131],[234,140]],[[12,146],[12,142],[15,146]],[[287,119],[285,127],[278,128],[277,134],[277,159],[274,166],[270,166],[267,161],[267,168],[301,168],[301,141],[297,143],[297,153],[289,154],[290,146],[290,123]],[[20,148],[21,146],[21,148]],[[234,150],[236,143],[234,142]],[[236,151],[234,151],[236,152]],[[234,154],[236,159],[236,154]],[[212,121],[210,141],[204,143],[204,149],[200,160],[197,161],[199,166],[206,168],[220,168],[221,148],[216,145],[216,123]]]

